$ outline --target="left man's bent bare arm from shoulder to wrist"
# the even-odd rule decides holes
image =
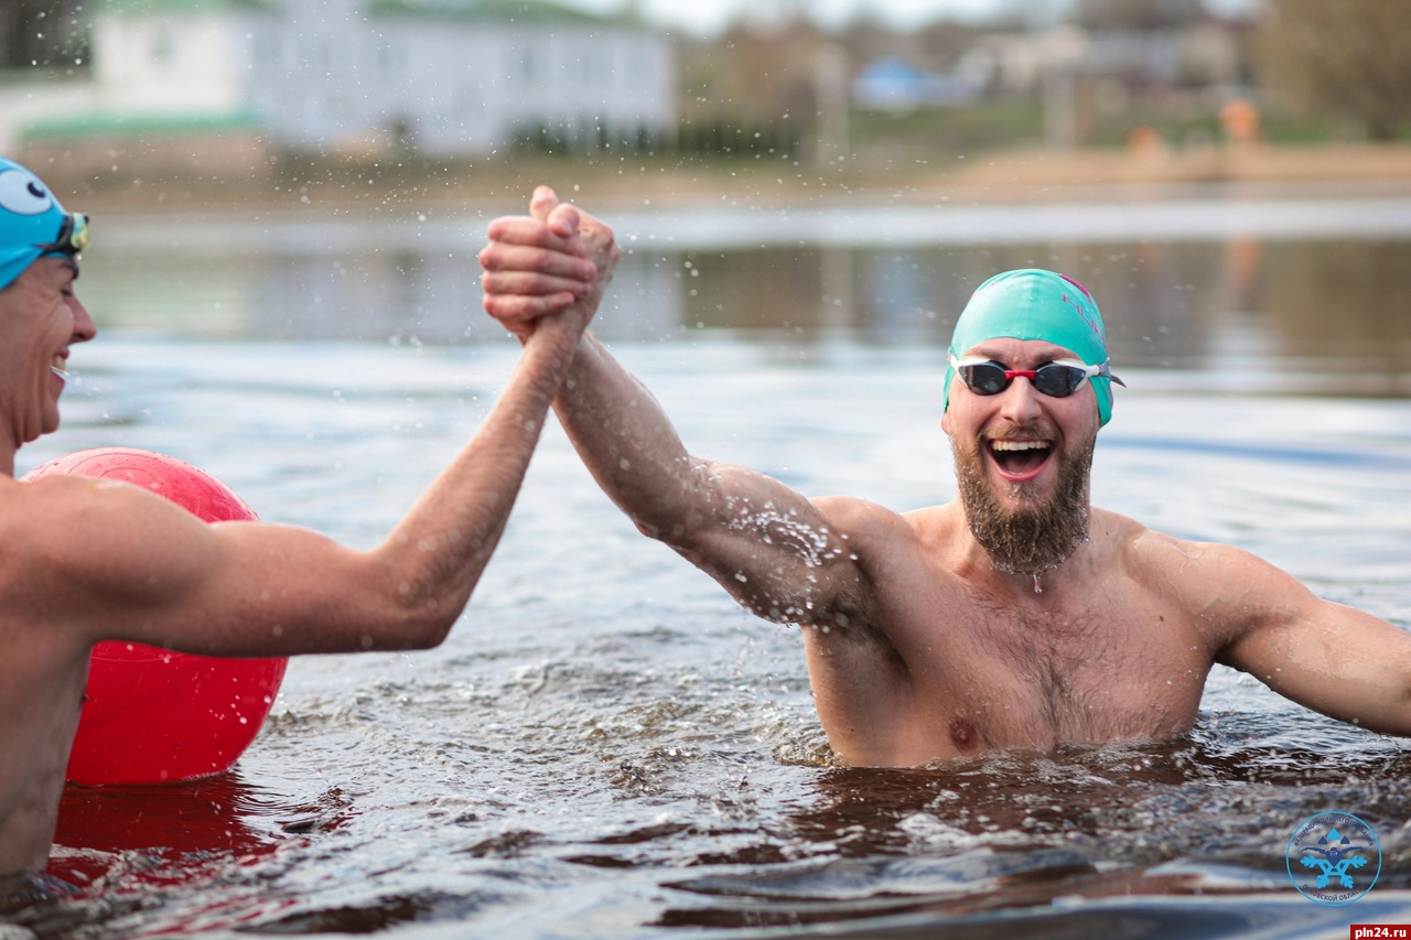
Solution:
[[[25,576],[7,611],[80,644],[272,656],[425,648],[460,615],[504,532],[583,320],[543,320],[490,415],[370,552],[306,529],[206,525],[130,486],[48,477],[7,504]]]

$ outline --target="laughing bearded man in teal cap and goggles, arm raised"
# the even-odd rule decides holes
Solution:
[[[521,337],[601,295],[577,274],[579,246],[557,243],[560,210],[540,188],[529,216],[491,223],[481,251],[485,309]],[[588,216],[580,231],[610,270],[611,231]],[[1247,552],[1089,505],[1113,381],[1098,305],[1077,282],[1029,270],[981,285],[955,325],[943,402],[959,500],[904,514],[809,500],[690,454],[591,333],[555,409],[643,534],[755,614],[803,628],[818,716],[848,764],[1170,738],[1194,725],[1216,662],[1411,734],[1405,632]]]

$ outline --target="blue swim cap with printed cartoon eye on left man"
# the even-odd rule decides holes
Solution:
[[[87,216],[63,212],[38,176],[0,157],[0,291],[41,255],[73,257],[85,247]]]

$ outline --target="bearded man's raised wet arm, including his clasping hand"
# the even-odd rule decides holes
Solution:
[[[583,254],[557,241],[564,212],[574,213]],[[525,336],[539,316],[595,308],[615,248],[607,226],[540,188],[531,216],[491,223],[480,257],[485,309]],[[584,281],[588,268],[593,278]],[[579,342],[555,411],[594,478],[636,526],[749,610],[787,622],[869,622],[847,534],[779,481],[690,454],[655,397],[590,333]]]

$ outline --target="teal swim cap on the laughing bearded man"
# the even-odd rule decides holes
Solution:
[[[985,340],[1044,340],[1072,351],[1088,366],[1108,361],[1108,335],[1098,302],[1077,281],[1041,268],[1005,271],[975,288],[955,320],[951,356],[959,358]],[[955,367],[945,370],[945,408],[951,405]],[[1112,419],[1112,378],[1094,375],[1102,423]],[[943,408],[943,411],[945,409]]]

